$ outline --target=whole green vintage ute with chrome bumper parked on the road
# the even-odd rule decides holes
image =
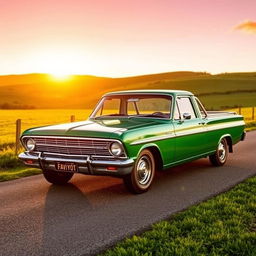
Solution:
[[[74,173],[108,175],[142,193],[156,171],[208,156],[224,165],[244,128],[241,115],[207,112],[188,91],[119,91],[104,95],[87,121],[26,130],[19,158],[53,184]]]

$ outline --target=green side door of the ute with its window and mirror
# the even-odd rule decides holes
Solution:
[[[190,96],[176,98],[174,110],[175,161],[188,160],[205,152],[204,122]]]

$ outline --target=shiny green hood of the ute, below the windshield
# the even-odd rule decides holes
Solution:
[[[90,119],[82,122],[37,127],[26,130],[23,135],[83,136],[118,139],[128,130],[156,125],[161,120],[147,118]]]

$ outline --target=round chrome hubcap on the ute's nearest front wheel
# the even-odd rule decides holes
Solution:
[[[140,185],[146,185],[152,173],[151,162],[147,156],[142,156],[137,164],[137,178]]]

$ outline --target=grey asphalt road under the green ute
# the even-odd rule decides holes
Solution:
[[[208,159],[158,173],[150,191],[129,194],[122,180],[77,175],[64,187],[42,175],[0,184],[0,255],[92,255],[256,175],[256,132],[224,167]]]

